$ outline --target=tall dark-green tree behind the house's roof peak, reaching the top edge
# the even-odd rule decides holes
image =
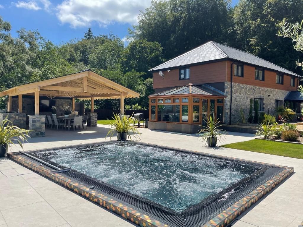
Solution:
[[[158,42],[164,57],[174,58],[207,41],[224,41],[229,7],[229,0],[152,1],[130,35]]]

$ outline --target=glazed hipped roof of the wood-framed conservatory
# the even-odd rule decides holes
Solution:
[[[162,91],[156,94],[152,94],[150,96],[158,96],[158,95],[180,95],[180,94],[199,94],[199,95],[216,95],[216,96],[224,96],[224,92],[211,87],[207,84],[201,84],[199,86],[188,84],[183,87],[177,87],[170,90]]]

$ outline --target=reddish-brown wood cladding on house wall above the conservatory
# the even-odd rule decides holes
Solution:
[[[184,67],[181,67],[182,69]],[[226,81],[226,61],[191,66],[188,80],[179,80],[179,69],[163,71],[164,79],[154,72],[154,89],[163,87],[181,87],[189,83],[208,84]]]

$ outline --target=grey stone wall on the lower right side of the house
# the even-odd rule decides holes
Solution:
[[[230,88],[231,83],[225,82],[225,100],[224,100],[224,122],[229,123],[230,110]],[[239,121],[239,110],[242,107],[246,113],[249,113],[249,101],[254,98],[263,99],[262,111],[274,114],[275,100],[282,100],[287,96],[289,91],[278,90],[273,88],[258,87],[246,84],[232,84],[232,107],[231,107],[231,123]]]

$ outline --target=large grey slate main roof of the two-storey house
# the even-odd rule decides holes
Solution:
[[[213,41],[205,43],[191,51],[188,51],[180,56],[173,58],[163,64],[160,64],[149,71],[160,71],[163,69],[169,69],[173,67],[180,67],[189,64],[198,64],[213,60],[235,60],[243,63],[252,64],[258,67],[263,67],[278,72],[282,72],[288,75],[301,77],[285,68],[275,65],[269,61],[265,61],[262,58],[256,57],[253,54],[249,54],[238,49],[228,47]]]

